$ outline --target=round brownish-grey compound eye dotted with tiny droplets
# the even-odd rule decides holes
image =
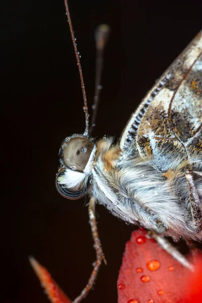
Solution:
[[[83,171],[94,144],[85,138],[72,138],[63,149],[64,163],[72,170]]]

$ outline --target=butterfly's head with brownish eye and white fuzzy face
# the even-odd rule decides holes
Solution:
[[[56,175],[56,188],[68,199],[79,199],[87,191],[96,144],[85,135],[66,137],[60,151],[61,168]]]

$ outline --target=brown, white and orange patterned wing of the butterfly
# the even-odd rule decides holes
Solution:
[[[136,142],[142,157],[167,171],[170,161],[202,160],[202,31],[147,93],[120,141],[127,152]]]

